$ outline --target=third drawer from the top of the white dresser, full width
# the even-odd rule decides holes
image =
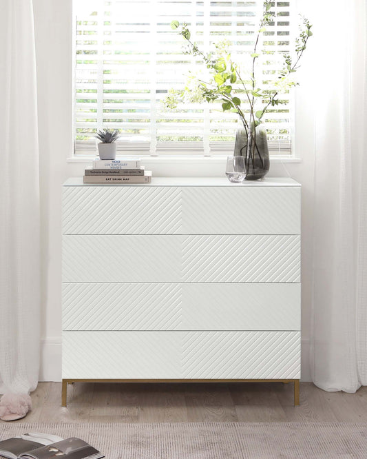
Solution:
[[[300,284],[63,284],[64,330],[298,330]]]

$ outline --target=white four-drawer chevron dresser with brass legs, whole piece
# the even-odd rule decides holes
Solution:
[[[291,179],[63,185],[63,396],[77,381],[300,380]]]

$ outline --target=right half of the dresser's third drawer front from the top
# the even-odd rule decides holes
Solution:
[[[299,330],[300,284],[183,284],[183,330]]]

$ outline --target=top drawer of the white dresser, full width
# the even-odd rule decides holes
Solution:
[[[63,234],[300,234],[300,187],[63,187]]]

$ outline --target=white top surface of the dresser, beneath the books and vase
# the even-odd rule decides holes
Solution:
[[[83,183],[83,177],[71,177],[65,187],[300,187],[288,177],[269,177],[260,181],[231,183],[227,177],[152,177],[151,183]]]

